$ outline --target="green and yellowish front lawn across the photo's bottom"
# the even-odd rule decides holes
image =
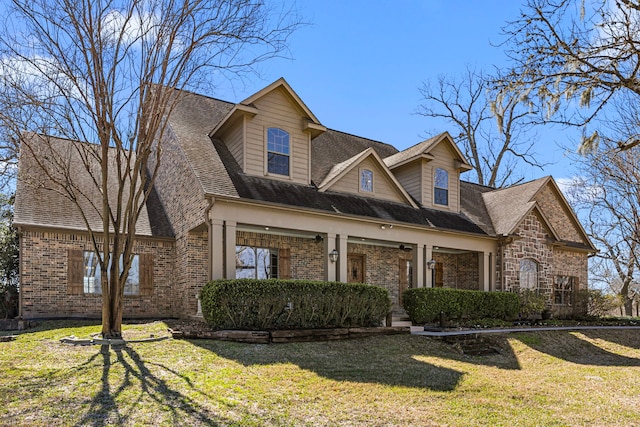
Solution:
[[[59,342],[99,330],[46,322],[0,343],[0,425],[640,425],[638,330],[500,335],[501,354],[483,357],[410,335]],[[151,333],[166,325],[125,325],[130,339]]]

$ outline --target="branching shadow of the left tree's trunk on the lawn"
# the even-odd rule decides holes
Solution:
[[[189,388],[204,394],[202,391],[195,389],[188,378],[162,364],[145,363],[131,347],[114,350],[116,360],[112,360],[113,353],[109,350],[109,346],[103,345],[100,352],[85,363],[91,364],[99,357],[102,357],[101,389],[93,396],[90,408],[86,411],[84,417],[75,425],[98,427],[122,425],[131,421],[136,424],[151,423],[152,425],[166,422],[166,419],[130,420],[134,412],[140,411],[141,407],[147,405],[147,396],[157,403],[157,406],[150,409],[150,411],[156,411],[155,413],[157,414],[158,408],[162,408],[165,417],[167,413],[170,414],[167,418],[170,419],[173,425],[216,426],[229,424],[230,420],[220,418],[190,397],[171,388],[169,382],[165,379],[171,376],[180,377]],[[111,370],[116,363],[122,366],[124,375],[114,381]],[[148,365],[153,365],[153,370]],[[139,382],[139,385],[134,384],[134,379]],[[137,397],[130,396],[132,391],[138,394]],[[127,399],[129,399],[127,400],[129,403],[126,406],[118,403],[118,397],[124,394],[128,395]],[[205,397],[213,399],[211,396]]]

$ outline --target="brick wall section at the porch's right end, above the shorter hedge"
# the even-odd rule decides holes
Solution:
[[[445,288],[480,290],[477,252],[449,254],[434,252],[433,259],[442,263],[442,286]]]

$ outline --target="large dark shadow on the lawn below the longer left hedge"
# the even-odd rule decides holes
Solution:
[[[416,356],[425,354],[424,340],[397,337],[281,344],[189,342],[244,366],[290,363],[335,381],[436,391],[452,391],[458,386],[464,372],[418,360]]]

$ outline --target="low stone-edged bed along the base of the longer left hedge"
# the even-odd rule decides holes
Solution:
[[[244,331],[213,330],[204,321],[197,319],[171,320],[167,321],[167,324],[175,339],[210,339],[254,344],[343,340],[411,333],[408,326]]]

